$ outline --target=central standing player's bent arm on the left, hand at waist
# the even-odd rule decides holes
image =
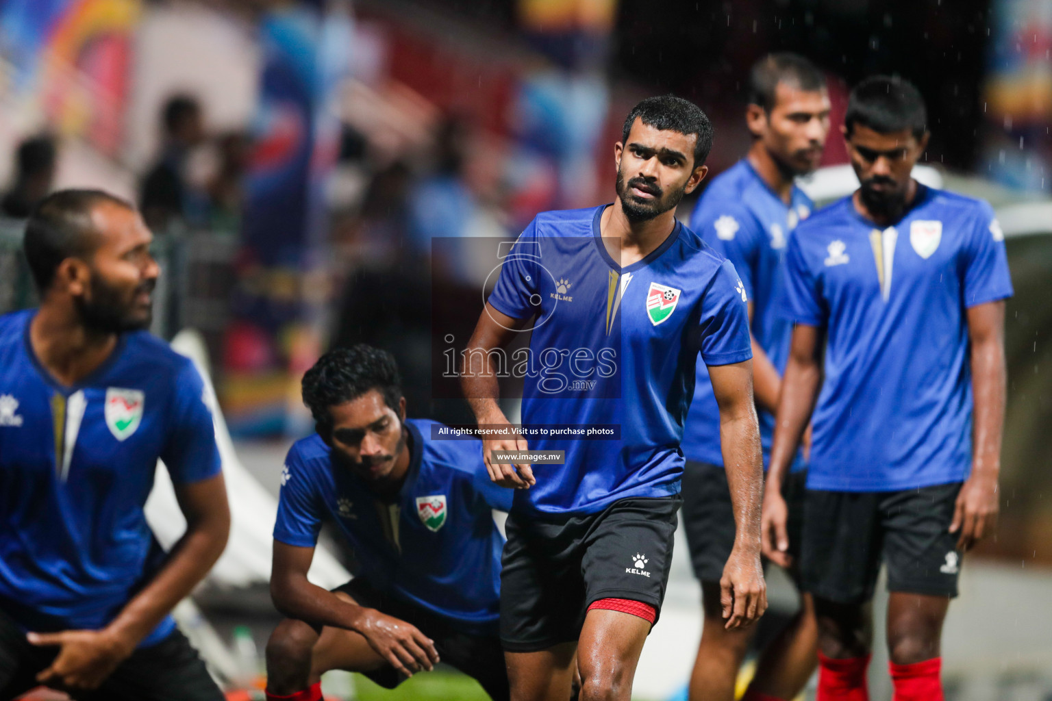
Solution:
[[[500,386],[493,373],[489,352],[503,349],[523,327],[526,319],[517,319],[493,308],[488,302],[479,316],[474,333],[464,350],[464,367],[461,369],[461,388],[464,396],[474,413],[479,426],[499,428],[509,426],[508,418],[501,411],[497,399],[500,396]],[[500,465],[492,460],[492,452],[526,450],[524,438],[486,438],[482,440],[482,456],[486,463],[489,478],[501,487],[529,489],[535,484],[533,471],[529,463]]]

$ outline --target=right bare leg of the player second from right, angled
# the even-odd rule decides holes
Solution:
[[[800,611],[761,654],[749,692],[796,698],[818,665],[817,644],[814,602],[810,594],[802,594]]]

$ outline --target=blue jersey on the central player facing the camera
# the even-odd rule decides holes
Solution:
[[[515,491],[517,511],[592,513],[677,494],[699,353],[708,365],[752,357],[734,267],[679,222],[621,267],[600,234],[607,206],[539,214],[489,296],[508,316],[535,315],[523,424],[620,427],[616,439],[529,438],[531,450],[565,451],[565,462],[534,465],[537,484]]]

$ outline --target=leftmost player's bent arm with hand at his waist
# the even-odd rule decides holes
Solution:
[[[101,631],[29,634],[37,645],[60,645],[58,657],[37,680],[49,686],[97,688],[175,609],[215,564],[226,545],[230,511],[223,475],[176,484],[186,532],[164,565]]]

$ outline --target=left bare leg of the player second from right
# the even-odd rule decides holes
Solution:
[[[705,619],[690,674],[690,701],[733,701],[737,669],[755,628],[726,628],[717,581],[702,582],[702,611]]]

